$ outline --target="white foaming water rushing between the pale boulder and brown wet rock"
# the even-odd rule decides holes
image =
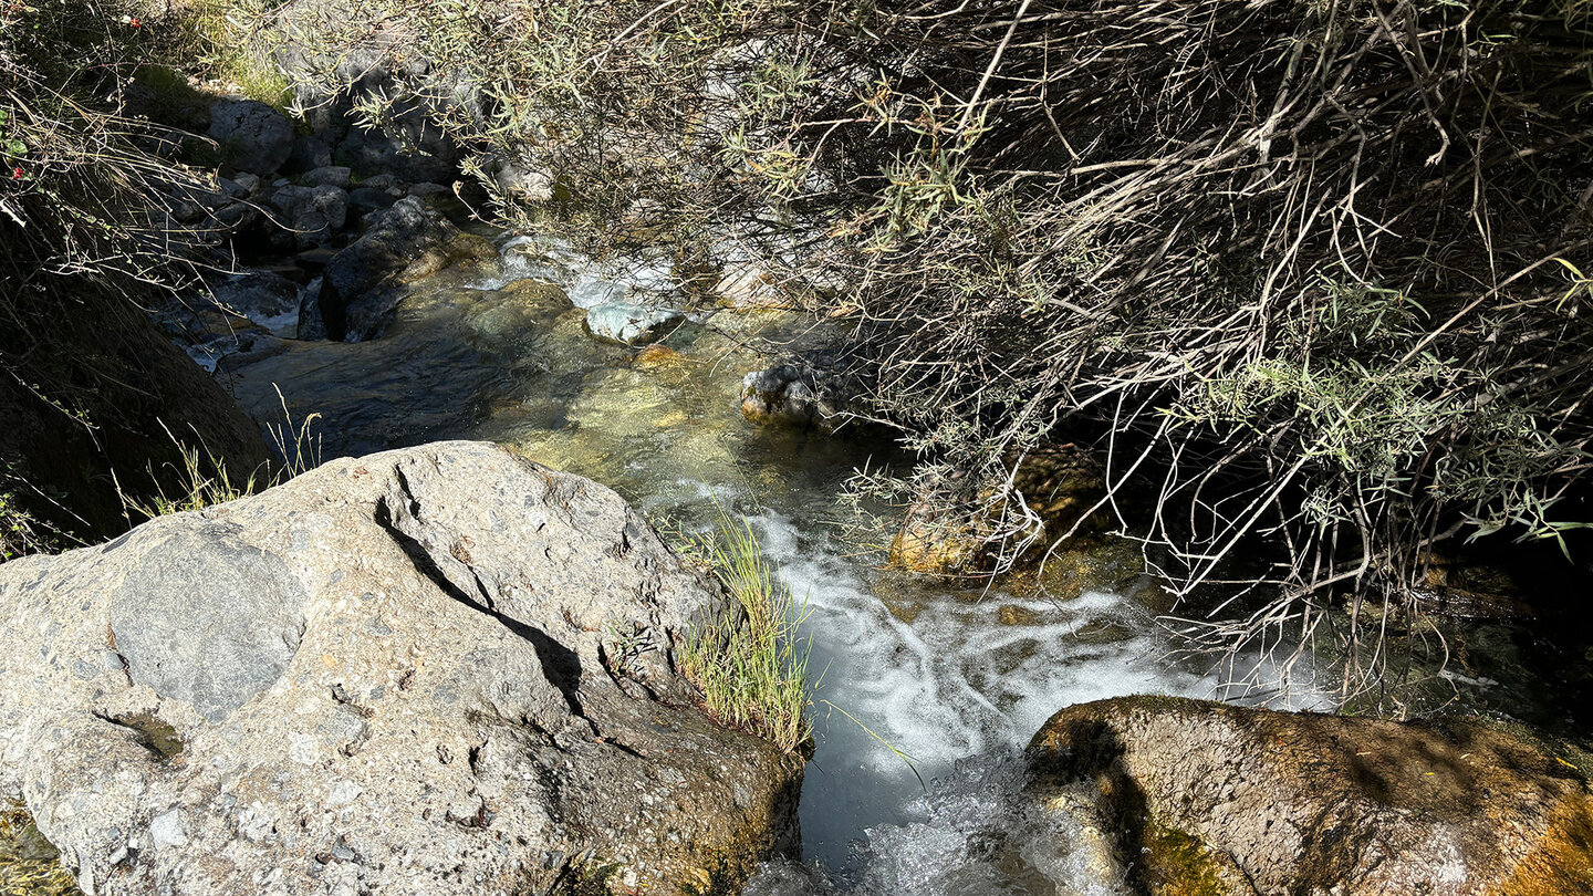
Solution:
[[[1150,614],[1117,595],[1050,603],[924,590],[892,612],[852,560],[777,513],[753,521],[809,612],[817,753],[803,786],[803,842],[809,861],[857,888],[847,891],[1026,891],[1007,890],[967,853],[980,835],[970,819],[988,823],[1000,805],[991,780],[1005,773],[1002,764],[1064,706],[1126,694],[1206,695],[1215,684],[1169,663]],[[1082,875],[1072,856],[1043,855],[1058,848],[1056,824],[1027,840],[1008,831],[1010,848],[1034,853],[1024,859],[1031,867]],[[967,861],[951,859],[964,853]],[[825,891],[812,885],[824,877],[812,869],[787,867],[776,886],[779,874],[749,893],[781,893],[796,878]],[[1115,893],[1112,880],[1082,886]]]

